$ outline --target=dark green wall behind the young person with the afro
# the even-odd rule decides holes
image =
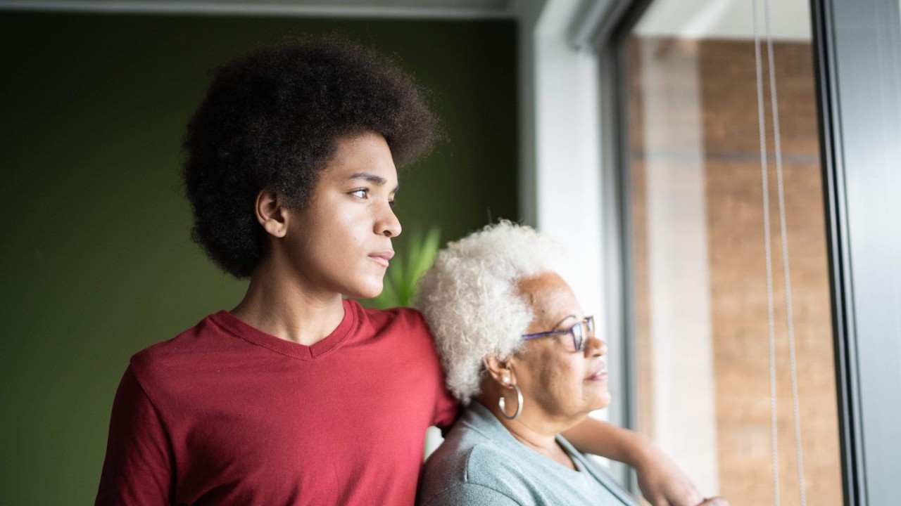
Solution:
[[[319,32],[433,92],[450,140],[401,172],[405,230],[517,218],[512,22],[0,12],[0,504],[92,502],[128,358],[240,300],[189,239],[184,126],[208,69]]]

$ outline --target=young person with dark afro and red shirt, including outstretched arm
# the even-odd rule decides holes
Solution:
[[[435,125],[409,77],[347,42],[217,70],[188,125],[185,183],[194,239],[250,286],[132,357],[97,504],[414,503],[424,430],[457,405],[418,312],[342,296],[381,292],[401,232],[395,162],[427,152]],[[637,466],[655,504],[701,500],[632,432],[567,436]]]

